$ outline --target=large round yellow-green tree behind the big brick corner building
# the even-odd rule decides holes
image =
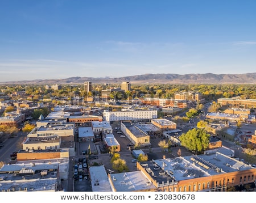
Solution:
[[[181,145],[186,147],[188,150],[201,153],[209,146],[210,134],[204,129],[192,129],[188,130],[187,133],[183,133],[180,136]]]

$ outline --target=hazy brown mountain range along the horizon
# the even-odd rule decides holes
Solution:
[[[90,78],[71,77],[66,79],[36,79],[31,81],[10,81],[0,84],[80,84],[85,81],[92,83],[122,83],[123,81],[138,84],[171,83],[171,84],[256,84],[256,73],[245,74],[143,74],[121,78]]]

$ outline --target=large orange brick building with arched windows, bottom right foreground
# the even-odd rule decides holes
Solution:
[[[256,168],[221,153],[137,163],[162,192],[254,190]]]

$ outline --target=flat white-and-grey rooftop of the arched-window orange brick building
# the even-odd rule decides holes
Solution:
[[[143,167],[159,184],[172,184],[180,180],[255,169],[218,152],[151,160],[146,162]]]

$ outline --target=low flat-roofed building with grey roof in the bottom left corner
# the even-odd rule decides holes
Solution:
[[[56,192],[60,188],[59,162],[5,164],[0,168],[1,192]]]

